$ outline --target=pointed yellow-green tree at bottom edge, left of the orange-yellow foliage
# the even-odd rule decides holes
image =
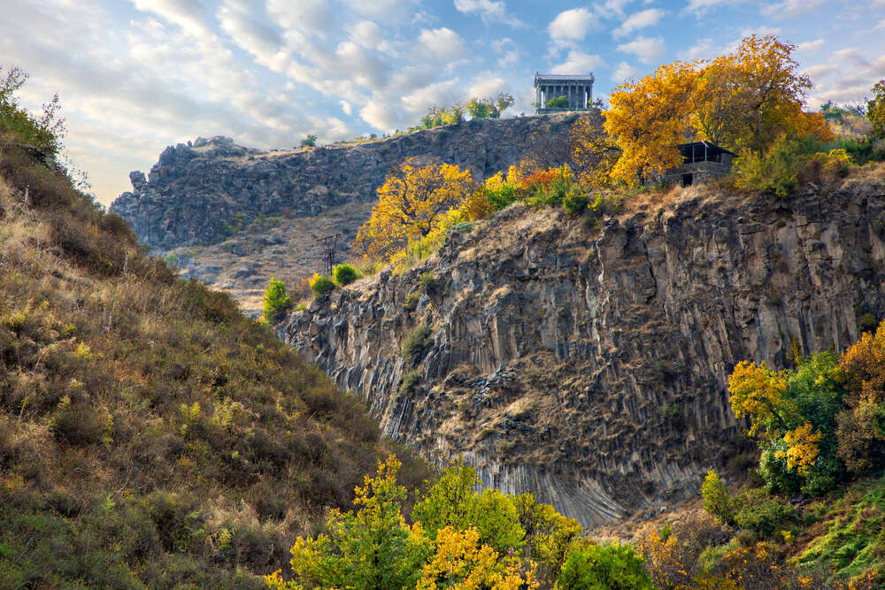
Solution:
[[[295,579],[284,582],[276,571],[266,577],[268,586],[276,590],[415,587],[433,544],[419,525],[405,524],[400,509],[406,490],[396,485],[401,465],[395,456],[379,462],[375,477],[366,476],[364,485],[356,488],[357,510],[331,510],[328,535],[298,537],[291,550]]]

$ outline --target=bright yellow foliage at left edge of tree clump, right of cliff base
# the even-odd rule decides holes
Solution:
[[[782,372],[774,372],[765,363],[742,361],[728,376],[728,395],[731,410],[737,418],[750,417],[750,435],[762,426],[774,422],[783,424],[784,394],[787,379]]]

